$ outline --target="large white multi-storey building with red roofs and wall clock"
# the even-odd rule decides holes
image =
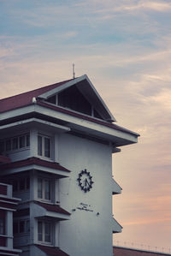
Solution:
[[[111,256],[112,153],[139,134],[116,125],[86,75],[0,100],[2,182],[21,201],[14,243],[28,255]],[[5,162],[5,163],[4,163]]]

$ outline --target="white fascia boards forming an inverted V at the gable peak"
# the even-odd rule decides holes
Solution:
[[[79,83],[80,81],[82,80],[86,80],[89,85],[91,86],[91,89],[92,91],[96,94],[98,100],[101,102],[101,104],[103,105],[103,108],[108,112],[110,118],[111,118],[111,121],[112,122],[115,122],[115,117],[112,115],[112,113],[109,111],[107,105],[104,103],[103,101],[103,98],[101,98],[101,96],[98,94],[96,88],[93,86],[93,84],[91,83],[91,80],[88,78],[88,76],[86,74],[80,76],[80,77],[77,77],[75,78],[74,80],[70,80],[68,82],[66,82],[65,84],[63,84],[62,86],[59,86],[59,87],[56,87],[55,89],[53,90],[50,90],[49,92],[45,92],[41,95],[38,96],[38,98],[44,98],[44,99],[47,99],[49,98],[50,96],[53,96],[54,94],[58,93],[58,92],[62,92],[63,90],[67,89],[68,87],[70,86],[73,86],[73,85],[76,85],[77,83]],[[78,87],[79,88],[79,87]]]

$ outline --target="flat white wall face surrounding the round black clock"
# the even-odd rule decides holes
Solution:
[[[59,136],[59,163],[71,170],[60,180],[61,206],[72,211],[69,221],[60,222],[59,247],[70,256],[111,256],[112,176],[111,148],[70,134]],[[81,170],[90,171],[91,191],[78,186]],[[79,210],[85,204],[85,210]],[[99,212],[99,215],[97,215]]]

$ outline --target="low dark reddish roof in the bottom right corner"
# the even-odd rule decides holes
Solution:
[[[114,247],[114,256],[167,256],[170,253],[157,253],[128,247]]]

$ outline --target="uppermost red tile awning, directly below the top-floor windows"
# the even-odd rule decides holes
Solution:
[[[27,166],[30,164],[38,164],[40,166],[49,167],[51,169],[63,170],[66,172],[70,172],[70,170],[66,169],[65,167],[63,167],[60,164],[57,164],[55,162],[46,161],[46,160],[39,159],[39,158],[27,158],[27,159],[16,161],[16,162],[11,162],[9,164],[1,164],[1,170],[8,170],[10,168],[19,168],[19,167]]]

